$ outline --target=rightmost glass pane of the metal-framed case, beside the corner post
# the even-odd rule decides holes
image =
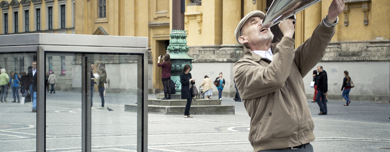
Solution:
[[[94,54],[87,65],[93,67],[87,75],[93,83],[91,149],[137,150],[137,112],[125,112],[124,105],[142,99],[140,56]]]

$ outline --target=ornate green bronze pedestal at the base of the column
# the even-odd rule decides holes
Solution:
[[[181,83],[180,83],[180,73],[183,71],[184,65],[190,65],[192,70],[191,61],[194,58],[188,56],[187,52],[190,49],[187,46],[187,34],[184,30],[172,30],[170,35],[171,39],[169,40],[169,46],[167,50],[169,51],[169,56],[172,61],[171,67],[171,80],[176,83],[176,92],[181,92]]]

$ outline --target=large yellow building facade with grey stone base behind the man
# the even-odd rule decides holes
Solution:
[[[194,58],[191,70],[193,77],[197,82],[201,82],[204,75],[213,79],[222,72],[227,82],[223,96],[234,96],[236,91],[232,66],[243,56],[243,48],[237,44],[234,30],[241,18],[249,12],[266,12],[272,0],[185,2],[184,29],[188,35],[187,45],[190,47],[188,54]],[[332,0],[322,0],[296,14],[296,47],[311,36],[317,24],[328,14],[331,2]],[[149,89],[161,91],[161,68],[157,66],[157,57],[167,53],[166,47],[169,45],[169,34],[172,30],[172,0],[79,0],[75,4],[76,34],[149,38]],[[339,64],[351,65],[348,67],[356,69],[358,63],[381,63],[385,69],[388,67],[383,79],[385,84],[389,84],[389,8],[389,0],[346,0],[346,7],[339,16],[339,24],[336,25],[335,36],[319,64],[329,64],[328,69]],[[363,68],[372,69],[371,66]],[[342,69],[336,71],[338,72],[335,73],[334,80],[331,76],[330,82],[340,81],[339,77],[344,77],[340,72]],[[355,70],[352,74],[355,72],[358,73]],[[371,79],[367,74],[362,77],[362,81],[365,77]],[[304,79],[310,79],[310,76]],[[366,87],[376,85],[373,80],[361,83]],[[339,85],[335,85],[330,94],[339,94]],[[371,87],[363,87],[356,91],[356,94],[367,94],[370,98],[381,96],[380,98],[386,98],[388,101],[388,86],[384,87],[385,91],[370,91]],[[214,90],[216,92],[216,88]],[[351,91],[351,94],[354,93]]]

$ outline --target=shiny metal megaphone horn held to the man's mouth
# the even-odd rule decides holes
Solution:
[[[264,28],[269,28],[291,16],[294,16],[295,20],[296,13],[319,1],[321,0],[273,0],[261,25]]]

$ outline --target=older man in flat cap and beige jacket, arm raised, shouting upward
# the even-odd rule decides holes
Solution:
[[[261,11],[247,14],[235,34],[245,47],[234,64],[234,79],[251,117],[249,141],[254,152],[312,152],[315,139],[302,78],[321,60],[335,33],[344,0],[333,0],[328,15],[312,37],[294,49],[294,24],[279,24],[284,37],[271,44],[273,34],[262,28]]]

